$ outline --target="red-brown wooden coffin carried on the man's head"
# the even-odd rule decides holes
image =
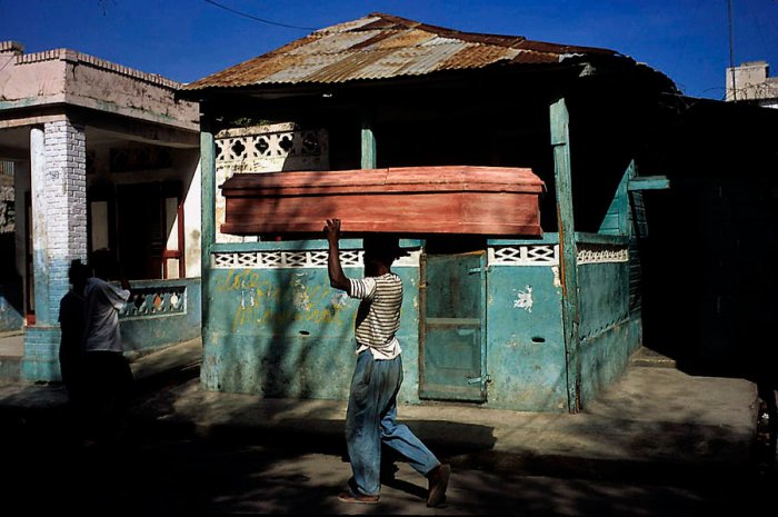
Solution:
[[[543,182],[530,169],[408,167],[237,173],[221,186],[225,233],[348,232],[540,236]]]

